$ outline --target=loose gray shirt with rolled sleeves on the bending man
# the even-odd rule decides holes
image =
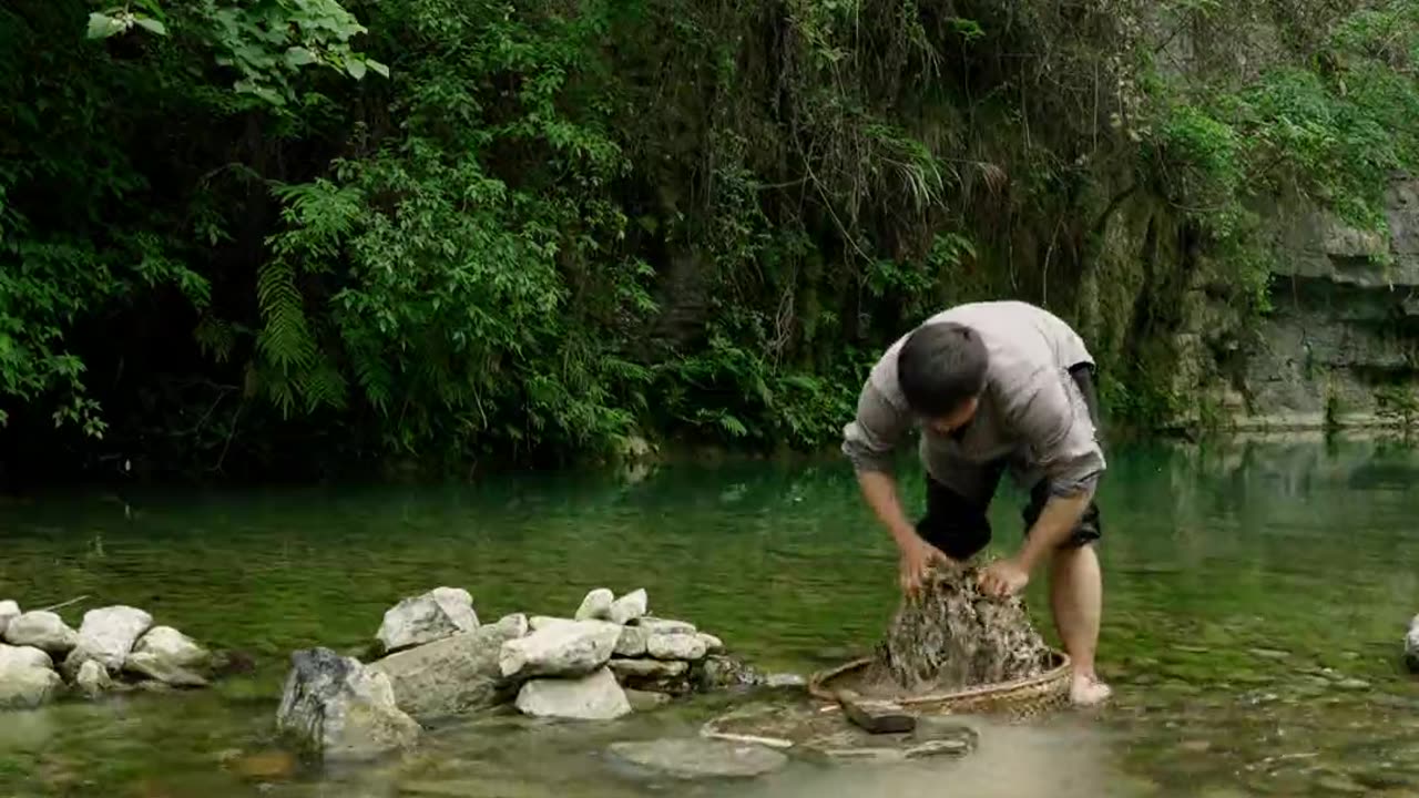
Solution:
[[[1093,488],[1105,469],[1084,396],[1069,375],[1093,365],[1084,341],[1059,317],[1026,302],[958,305],[927,319],[956,322],[986,346],[985,393],[975,417],[956,436],[922,425],[897,383],[902,335],[873,366],[857,400],[857,417],[843,429],[843,453],[858,471],[890,471],[893,453],[912,427],[921,432],[927,473],[966,497],[988,501],[981,466],[1007,460],[1030,486],[1047,479],[1050,491],[1071,496]]]

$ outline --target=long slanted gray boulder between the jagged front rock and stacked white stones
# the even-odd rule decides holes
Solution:
[[[526,618],[514,615],[473,632],[390,655],[369,666],[389,677],[394,703],[424,723],[504,703],[515,682],[504,679],[502,645],[522,638]]]

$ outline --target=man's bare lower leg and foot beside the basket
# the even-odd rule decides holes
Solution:
[[[1070,700],[1076,704],[1097,704],[1112,693],[1094,672],[1103,603],[1104,578],[1094,547],[1056,551],[1050,572],[1050,606],[1060,640],[1074,665]]]

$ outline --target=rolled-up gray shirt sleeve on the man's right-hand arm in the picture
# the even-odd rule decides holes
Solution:
[[[1029,446],[1032,466],[1054,496],[1093,491],[1107,463],[1088,406],[1067,378],[1043,376],[1019,396],[1013,426]]]

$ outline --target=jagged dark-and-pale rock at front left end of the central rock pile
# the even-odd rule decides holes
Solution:
[[[277,728],[325,760],[369,760],[412,747],[419,724],[394,704],[389,676],[329,649],[291,655]]]

